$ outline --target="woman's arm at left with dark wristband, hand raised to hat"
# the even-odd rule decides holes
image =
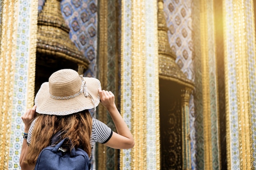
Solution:
[[[28,109],[27,112],[21,117],[22,121],[25,124],[24,133],[29,132],[31,121],[35,117],[36,117],[36,105],[33,106],[32,109]],[[27,139],[23,139],[21,154],[20,154],[20,167],[22,170],[33,170],[35,168],[35,166],[29,166],[27,163],[25,163],[28,151],[29,151],[29,146],[27,146]]]

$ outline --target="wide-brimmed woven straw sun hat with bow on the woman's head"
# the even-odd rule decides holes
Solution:
[[[93,77],[83,77],[62,69],[41,85],[35,97],[36,112],[47,115],[70,115],[99,105],[101,83]]]

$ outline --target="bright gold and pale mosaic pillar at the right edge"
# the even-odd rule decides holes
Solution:
[[[223,0],[228,170],[256,165],[254,3]]]

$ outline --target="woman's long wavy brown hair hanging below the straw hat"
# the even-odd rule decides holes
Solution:
[[[31,144],[29,145],[26,160],[29,165],[36,163],[41,150],[51,144],[51,139],[57,132],[65,132],[61,135],[61,138],[68,137],[72,142],[72,147],[80,147],[88,155],[91,154],[92,117],[88,110],[67,116],[40,114],[36,118]]]

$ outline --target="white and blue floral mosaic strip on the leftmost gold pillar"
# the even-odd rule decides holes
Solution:
[[[19,160],[23,141],[24,124],[21,116],[27,110],[27,81],[29,70],[29,33],[31,1],[19,4],[18,30],[16,42],[16,65],[13,84],[13,111],[9,151],[9,170],[20,169]]]

